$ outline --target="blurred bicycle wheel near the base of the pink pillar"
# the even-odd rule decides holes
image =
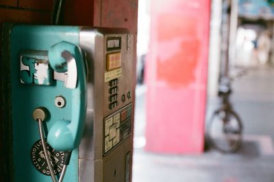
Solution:
[[[210,146],[221,152],[236,152],[242,143],[242,122],[231,110],[217,110],[206,127]]]

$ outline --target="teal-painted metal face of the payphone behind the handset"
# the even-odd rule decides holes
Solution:
[[[32,166],[30,150],[39,139],[38,124],[32,118],[32,111],[38,106],[49,109],[51,115],[47,121],[48,128],[60,118],[70,120],[73,111],[73,90],[65,88],[64,82],[61,81],[56,81],[49,87],[22,84],[19,56],[22,49],[47,51],[51,45],[60,41],[79,45],[79,27],[16,25],[12,28],[11,34],[14,181],[49,182],[50,177],[40,174]],[[66,106],[63,109],[55,106],[56,95],[66,98]],[[77,149],[73,150],[64,181],[78,181]]]

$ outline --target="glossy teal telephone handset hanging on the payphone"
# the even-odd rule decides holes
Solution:
[[[79,46],[62,41],[49,49],[49,64],[63,73],[64,89],[72,89],[71,120],[55,121],[49,128],[47,141],[55,150],[68,151],[79,146],[86,118],[86,69]]]

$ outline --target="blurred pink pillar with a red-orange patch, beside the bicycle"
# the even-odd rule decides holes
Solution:
[[[201,153],[210,0],[151,0],[146,150]]]

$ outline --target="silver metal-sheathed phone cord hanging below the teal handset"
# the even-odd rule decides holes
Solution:
[[[47,166],[49,167],[49,173],[51,174],[51,179],[52,179],[53,182],[62,182],[63,179],[64,179],[64,175],[66,174],[66,167],[69,165],[69,161],[71,159],[71,151],[65,152],[64,166],[63,166],[62,172],[60,174],[59,181],[57,181],[57,179],[55,177],[55,174],[53,172],[53,168],[51,166],[51,160],[49,159],[49,153],[48,153],[48,150],[47,150],[47,144],[46,144],[46,141],[45,141],[45,135],[44,135],[41,119],[38,119],[38,127],[39,127],[40,139],[42,141],[42,148],[43,148],[44,153],[45,153]]]

